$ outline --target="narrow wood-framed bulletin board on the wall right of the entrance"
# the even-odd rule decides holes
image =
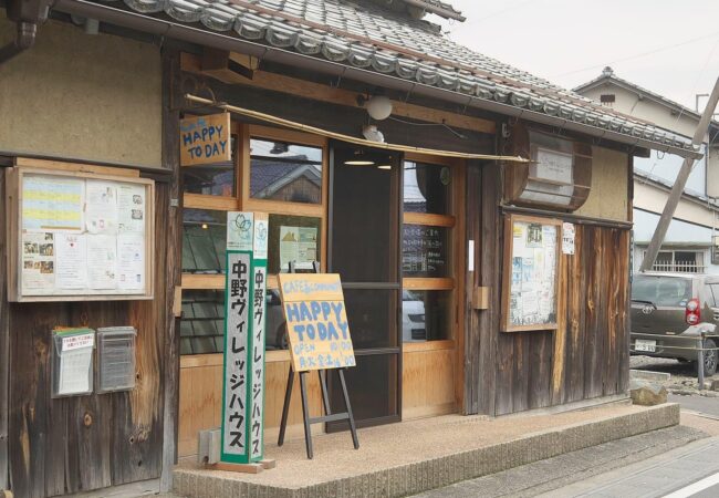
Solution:
[[[504,231],[502,330],[556,329],[562,222],[510,215]]]

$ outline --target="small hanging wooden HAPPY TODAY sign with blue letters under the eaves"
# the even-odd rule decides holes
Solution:
[[[188,117],[180,121],[180,164],[221,163],[232,158],[230,114]]]

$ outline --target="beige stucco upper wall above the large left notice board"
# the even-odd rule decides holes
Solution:
[[[159,167],[160,73],[157,46],[49,21],[0,65],[0,151]]]

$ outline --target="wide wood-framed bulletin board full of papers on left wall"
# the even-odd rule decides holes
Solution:
[[[155,183],[62,166],[8,170],[9,299],[152,299]]]

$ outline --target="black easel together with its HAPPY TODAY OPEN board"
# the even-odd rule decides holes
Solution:
[[[314,273],[298,274],[294,272],[294,264],[290,263],[290,273],[279,276],[292,361],[284,393],[278,446],[284,444],[294,373],[299,372],[304,442],[309,459],[312,459],[313,456],[310,429],[312,424],[347,421],[354,448],[359,449],[357,429],[347,395],[347,384],[344,380],[344,370],[354,366],[355,360],[344,310],[342,284],[336,274],[320,274],[316,261],[313,263],[313,270]],[[316,370],[320,376],[322,405],[325,413],[319,417],[310,416],[308,403],[308,374],[313,370]],[[344,396],[345,412],[342,413],[332,413],[330,407],[327,372],[333,370],[337,372]]]

